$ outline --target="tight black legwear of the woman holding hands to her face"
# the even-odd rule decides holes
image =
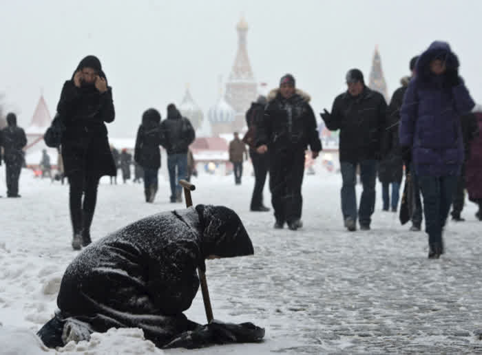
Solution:
[[[74,234],[81,233],[83,230],[84,215],[90,216],[88,226],[90,228],[92,216],[96,208],[98,180],[97,176],[85,176],[83,173],[72,173],[69,176],[70,218]]]

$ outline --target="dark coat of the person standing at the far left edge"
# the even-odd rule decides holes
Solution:
[[[3,146],[3,160],[6,164],[22,166],[22,149],[27,145],[25,131],[17,126],[17,116],[14,114],[7,115],[7,124],[8,126],[0,131],[0,142]]]

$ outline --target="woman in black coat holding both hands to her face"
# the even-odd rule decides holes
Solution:
[[[98,181],[103,175],[116,174],[104,123],[115,117],[112,88],[98,58],[83,58],[72,79],[65,81],[57,112],[65,125],[61,145],[70,183],[72,248],[79,250],[91,242]]]

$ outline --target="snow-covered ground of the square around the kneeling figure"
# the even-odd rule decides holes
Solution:
[[[5,198],[0,173],[0,354],[54,354],[34,332],[56,309],[63,271],[77,252],[70,246],[68,186],[38,180],[23,170],[21,199]],[[461,224],[446,228],[446,255],[427,259],[425,233],[408,232],[395,213],[382,212],[377,195],[372,230],[348,233],[339,203],[341,177],[306,175],[304,228],[274,230],[271,213],[251,213],[253,177],[193,180],[195,204],[224,204],[237,211],[255,255],[207,261],[216,319],[265,327],[263,343],[164,352],[138,329],[94,334],[90,343],[67,344],[59,354],[474,354],[482,353],[482,223],[468,202]],[[161,174],[162,175],[162,174]],[[141,184],[103,179],[92,226],[101,238],[141,217],[182,208],[169,204],[160,177],[154,204]],[[118,179],[121,180],[121,179]],[[269,205],[269,192],[265,188]],[[200,292],[187,316],[205,323]]]

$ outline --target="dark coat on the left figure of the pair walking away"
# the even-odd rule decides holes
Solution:
[[[163,134],[160,129],[160,115],[144,114],[143,123],[137,130],[134,160],[143,168],[160,168],[160,149]]]

